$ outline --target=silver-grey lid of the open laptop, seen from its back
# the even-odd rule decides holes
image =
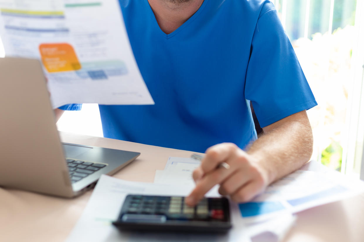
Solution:
[[[0,58],[0,186],[72,197],[40,62]]]

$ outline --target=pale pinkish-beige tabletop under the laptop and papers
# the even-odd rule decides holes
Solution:
[[[153,182],[169,156],[190,157],[191,151],[156,147],[60,132],[62,141],[141,152],[114,177]],[[0,241],[64,241],[81,216],[92,191],[74,199],[0,188]],[[297,214],[296,225],[284,241],[364,241],[364,194]]]

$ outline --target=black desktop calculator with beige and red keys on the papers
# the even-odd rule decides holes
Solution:
[[[194,207],[185,197],[127,195],[113,224],[120,230],[225,233],[230,223],[229,200],[203,198]]]

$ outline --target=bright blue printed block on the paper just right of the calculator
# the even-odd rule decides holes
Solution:
[[[239,204],[239,209],[242,217],[251,217],[266,213],[273,213],[284,210],[285,207],[281,202],[246,202]]]

